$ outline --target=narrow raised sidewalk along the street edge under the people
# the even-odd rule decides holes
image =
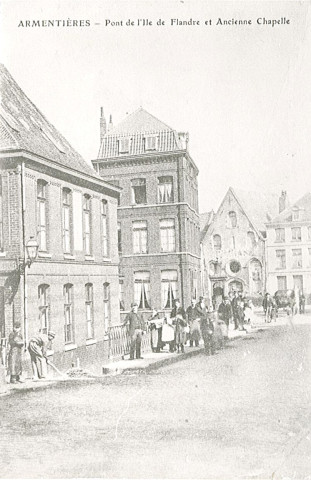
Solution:
[[[234,341],[238,338],[245,337],[247,335],[251,335],[257,332],[257,328],[252,329],[250,333],[246,333],[245,331],[239,330],[232,330],[229,331],[229,340]],[[41,390],[46,388],[52,388],[58,384],[63,384],[64,382],[70,384],[85,384],[85,383],[94,383],[94,382],[102,382],[105,379],[120,375],[120,374],[140,374],[140,373],[148,373],[152,370],[157,368],[161,368],[165,365],[170,365],[175,362],[179,362],[182,360],[186,360],[195,355],[199,355],[203,351],[203,343],[200,343],[199,347],[185,347],[185,353],[169,353],[161,352],[161,353],[146,353],[144,354],[144,358],[142,360],[119,360],[116,362],[110,362],[103,365],[102,373],[103,375],[96,376],[96,375],[88,375],[88,376],[55,376],[51,378],[47,378],[44,380],[32,380],[26,379],[25,383],[18,383],[18,384],[7,384],[7,391],[5,393],[0,394],[0,398],[7,396],[11,393],[25,393],[25,392],[33,392],[35,390]]]

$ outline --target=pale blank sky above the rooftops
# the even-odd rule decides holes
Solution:
[[[25,26],[53,19],[69,25]],[[0,0],[0,59],[88,162],[101,106],[115,124],[142,106],[189,132],[204,212],[229,186],[311,191],[310,26],[299,1]]]

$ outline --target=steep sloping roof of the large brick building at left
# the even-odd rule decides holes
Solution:
[[[25,150],[99,178],[0,64],[0,148]]]

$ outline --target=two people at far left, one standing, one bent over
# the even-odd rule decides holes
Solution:
[[[35,379],[44,379],[47,375],[47,348],[54,339],[55,333],[39,332],[32,337],[28,344],[28,351],[31,359],[33,377]],[[8,373],[10,375],[10,383],[23,383],[22,376],[22,351],[24,347],[24,339],[22,335],[21,324],[14,323],[13,331],[9,335],[9,353],[8,353]]]

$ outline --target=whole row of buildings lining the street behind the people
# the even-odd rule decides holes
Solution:
[[[0,74],[2,337],[14,321],[26,342],[52,329],[54,362],[89,365],[109,356],[110,329],[133,301],[148,317],[177,297],[187,306],[230,290],[258,300],[267,287],[311,292],[310,196],[289,207],[285,193],[230,188],[200,216],[187,133],[142,108],[107,125],[101,109],[91,166]]]

